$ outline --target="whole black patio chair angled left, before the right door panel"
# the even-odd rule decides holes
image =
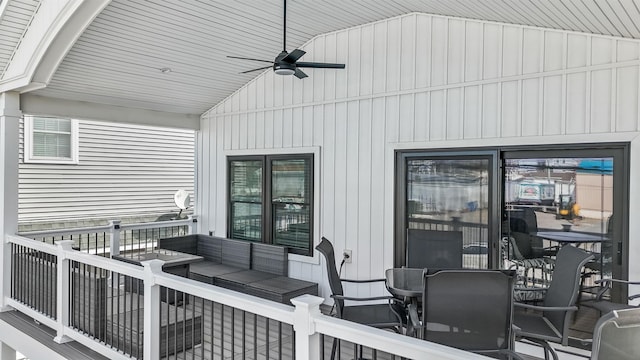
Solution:
[[[516,337],[542,345],[545,359],[548,359],[550,353],[558,360],[558,355],[549,345],[549,341],[568,345],[569,323],[573,312],[578,310],[576,301],[582,268],[593,258],[593,254],[582,249],[570,245],[563,246],[558,251],[549,287],[542,290],[531,289],[544,291],[542,305],[515,303],[513,323],[517,328]]]

